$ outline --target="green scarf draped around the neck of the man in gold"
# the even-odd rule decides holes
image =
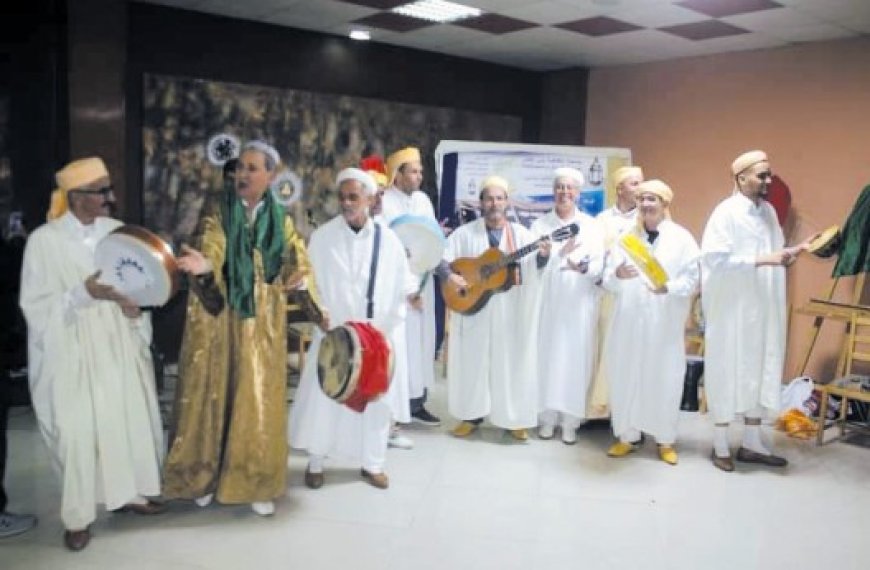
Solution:
[[[245,206],[235,192],[227,192],[223,205],[223,228],[227,238],[224,278],[229,305],[243,319],[254,316],[254,249],[260,250],[266,282],[281,271],[284,253],[284,208],[266,190],[263,206],[248,226]]]

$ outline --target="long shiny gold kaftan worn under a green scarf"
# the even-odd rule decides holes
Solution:
[[[226,236],[220,214],[207,212],[200,251],[220,268]],[[274,283],[263,281],[254,250],[254,318],[242,319],[227,304],[217,316],[196,295],[188,298],[179,358],[170,448],[163,495],[193,499],[216,493],[221,503],[270,501],[282,496],[287,474],[287,325],[283,279],[305,270],[315,291],[304,242],[285,218],[285,267]],[[289,267],[292,259],[293,267]]]

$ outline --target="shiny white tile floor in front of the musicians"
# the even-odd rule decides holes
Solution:
[[[444,401],[442,382],[431,402],[442,417]],[[9,507],[40,522],[0,542],[0,569],[870,568],[870,450],[777,434],[787,470],[726,474],[708,458],[709,419],[681,422],[676,467],[652,443],[607,458],[601,425],[581,429],[574,446],[411,428],[416,448],[389,451],[387,491],[354,466],[328,468],[326,485],[311,491],[305,458],[294,455],[272,518],[185,503],[159,517],[104,513],[91,545],[73,554],[61,543],[58,483],[34,420],[15,410]]]

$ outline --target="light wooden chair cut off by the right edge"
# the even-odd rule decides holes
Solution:
[[[857,372],[863,372],[860,375]],[[819,409],[819,431],[816,444],[825,443],[825,418],[828,413],[828,396],[840,396],[840,417],[834,422],[840,428],[842,438],[846,433],[846,414],[849,400],[870,403],[870,390],[864,389],[870,374],[870,317],[853,314],[849,320],[849,331],[845,349],[845,375],[819,387],[821,406]]]

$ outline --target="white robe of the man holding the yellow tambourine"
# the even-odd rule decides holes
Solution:
[[[616,268],[627,259],[621,248],[614,248],[607,261],[604,285],[614,293],[615,304],[604,365],[613,433],[623,437],[640,431],[672,444],[686,373],[685,324],[700,279],[700,251],[682,226],[664,220],[658,230],[650,250],[668,274],[667,293],[653,293],[641,276],[616,277]],[[646,232],[633,231],[647,243]]]

